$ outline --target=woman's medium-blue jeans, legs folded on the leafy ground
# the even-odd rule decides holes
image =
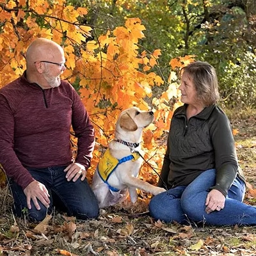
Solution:
[[[256,225],[256,208],[243,203],[245,184],[238,177],[228,190],[221,211],[205,212],[209,188],[216,182],[216,171],[206,170],[188,186],[179,186],[154,196],[149,204],[153,218],[166,223],[204,223],[207,225]]]

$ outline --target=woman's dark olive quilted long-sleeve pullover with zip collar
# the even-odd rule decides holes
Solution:
[[[216,105],[187,120],[187,106],[173,114],[161,178],[168,188],[188,186],[200,173],[214,168],[216,184],[211,189],[226,196],[238,170],[230,122]]]

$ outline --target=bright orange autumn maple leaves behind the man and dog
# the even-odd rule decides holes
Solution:
[[[118,114],[131,106],[154,109],[156,122],[145,131],[143,146],[146,152],[150,149],[146,158],[152,166],[161,167],[165,145],[157,141],[168,131],[173,109],[179,104],[175,70],[187,65],[193,56],[173,59],[170,77],[161,77],[152,71],[159,66],[161,49],[149,52],[140,47],[146,28],[138,18],[97,35],[93,26],[83,22],[86,7],[76,8],[65,0],[0,0],[0,13],[0,86],[22,75],[26,49],[35,38],[54,40],[63,46],[67,60],[62,78],[80,93],[95,126],[92,172],[102,148],[113,138]],[[168,84],[168,90],[154,98],[152,88],[163,83]],[[145,164],[143,170],[143,177],[150,179],[150,167]],[[152,177],[152,183],[156,182],[157,176]]]

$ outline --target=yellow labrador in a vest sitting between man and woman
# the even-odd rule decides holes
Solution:
[[[100,208],[122,202],[128,191],[131,202],[135,203],[138,199],[136,188],[153,195],[165,191],[137,178],[143,162],[140,147],[142,131],[153,120],[152,111],[141,111],[134,107],[122,111],[118,116],[115,139],[109,143],[93,175],[92,189]]]

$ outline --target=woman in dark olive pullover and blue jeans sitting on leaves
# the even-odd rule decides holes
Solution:
[[[256,209],[243,204],[244,177],[237,164],[230,122],[216,105],[218,79],[209,63],[182,68],[183,106],[173,114],[159,186],[168,191],[149,204],[165,222],[255,225]]]

